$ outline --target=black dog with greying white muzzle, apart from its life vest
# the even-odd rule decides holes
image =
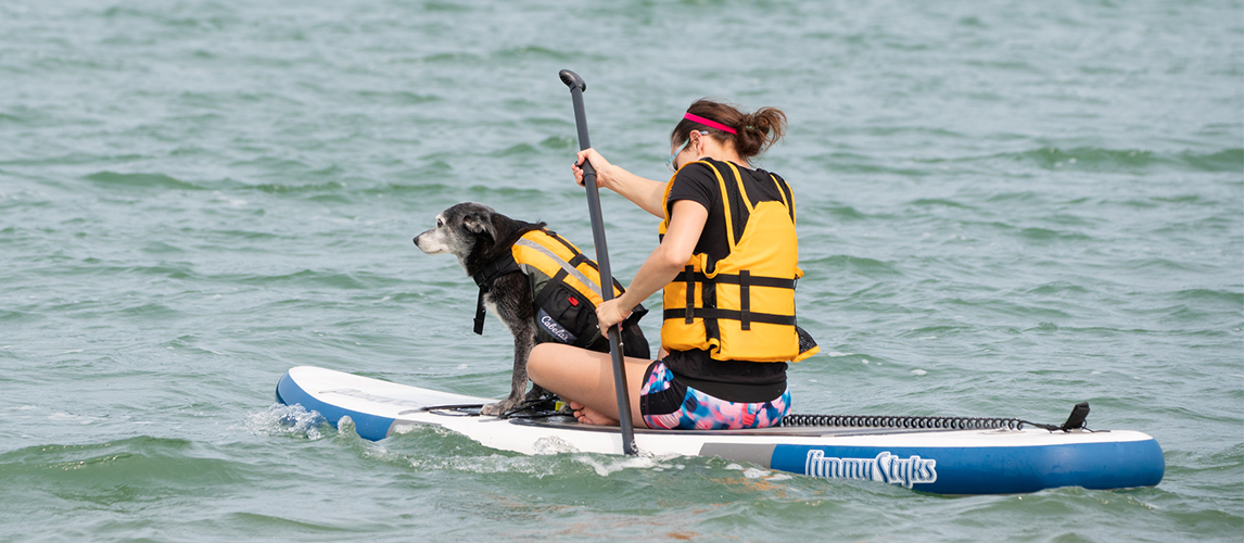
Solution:
[[[466,275],[476,279],[480,284],[480,309],[476,311],[475,333],[483,333],[483,308],[488,308],[496,315],[501,324],[514,335],[514,372],[510,377],[510,395],[496,404],[484,406],[483,415],[500,416],[525,402],[536,401],[549,395],[539,385],[532,384],[530,392],[527,389],[527,356],[531,354],[537,341],[537,330],[542,320],[545,330],[549,326],[549,315],[536,306],[535,293],[525,273],[500,272],[490,279],[490,285],[481,283],[481,275],[489,275],[490,267],[495,268],[495,262],[505,259],[511,252],[511,247],[526,233],[539,230],[545,223],[527,223],[515,220],[503,215],[493,208],[466,202],[445,209],[437,215],[437,225],[414,237],[414,245],[427,254],[449,253],[458,257],[458,263],[466,272]],[[592,263],[595,264],[595,263]],[[576,300],[571,300],[578,305]],[[622,346],[627,356],[648,357],[648,341],[639,329],[638,320],[647,309],[636,308],[632,316],[622,324]],[[595,311],[583,316],[592,324],[596,321]],[[560,329],[560,326],[554,325]],[[565,330],[561,330],[565,331]],[[582,331],[582,330],[580,330]],[[592,330],[592,334],[598,331]],[[576,333],[578,334],[578,333]],[[600,341],[595,341],[600,344]],[[608,352],[608,342],[588,346],[601,352]]]

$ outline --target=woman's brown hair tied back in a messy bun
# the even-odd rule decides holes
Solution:
[[[674,126],[674,131],[669,133],[669,141],[675,146],[680,146],[689,139],[692,131],[708,131],[708,135],[719,142],[734,143],[734,151],[739,153],[739,157],[748,159],[763,153],[786,133],[786,113],[775,107],[761,107],[754,113],[744,113],[734,105],[700,98],[695,103],[692,103],[692,107],[688,107],[687,112],[717,121],[734,128],[738,133],[731,135],[726,131],[683,118]]]

